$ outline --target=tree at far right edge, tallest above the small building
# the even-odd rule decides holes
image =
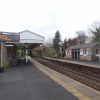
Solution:
[[[100,42],[100,22],[95,22],[89,29],[93,42]]]

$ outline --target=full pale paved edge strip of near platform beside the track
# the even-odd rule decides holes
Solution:
[[[31,59],[33,64],[37,66],[43,73],[49,76],[57,84],[62,86],[66,91],[78,98],[78,100],[100,100],[100,92],[84,85],[78,81],[75,81],[59,72],[56,72],[40,63]]]

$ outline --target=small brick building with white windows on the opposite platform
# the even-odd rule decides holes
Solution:
[[[100,43],[86,43],[84,45],[70,46],[66,50],[66,57],[74,60],[100,59]]]

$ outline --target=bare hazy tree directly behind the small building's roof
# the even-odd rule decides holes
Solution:
[[[78,42],[78,44],[86,43],[87,36],[85,35],[84,31],[77,31],[76,34],[77,34],[77,42]]]

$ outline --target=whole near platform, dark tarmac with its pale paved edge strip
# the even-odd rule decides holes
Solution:
[[[100,92],[30,61],[0,73],[0,100],[100,100]]]

